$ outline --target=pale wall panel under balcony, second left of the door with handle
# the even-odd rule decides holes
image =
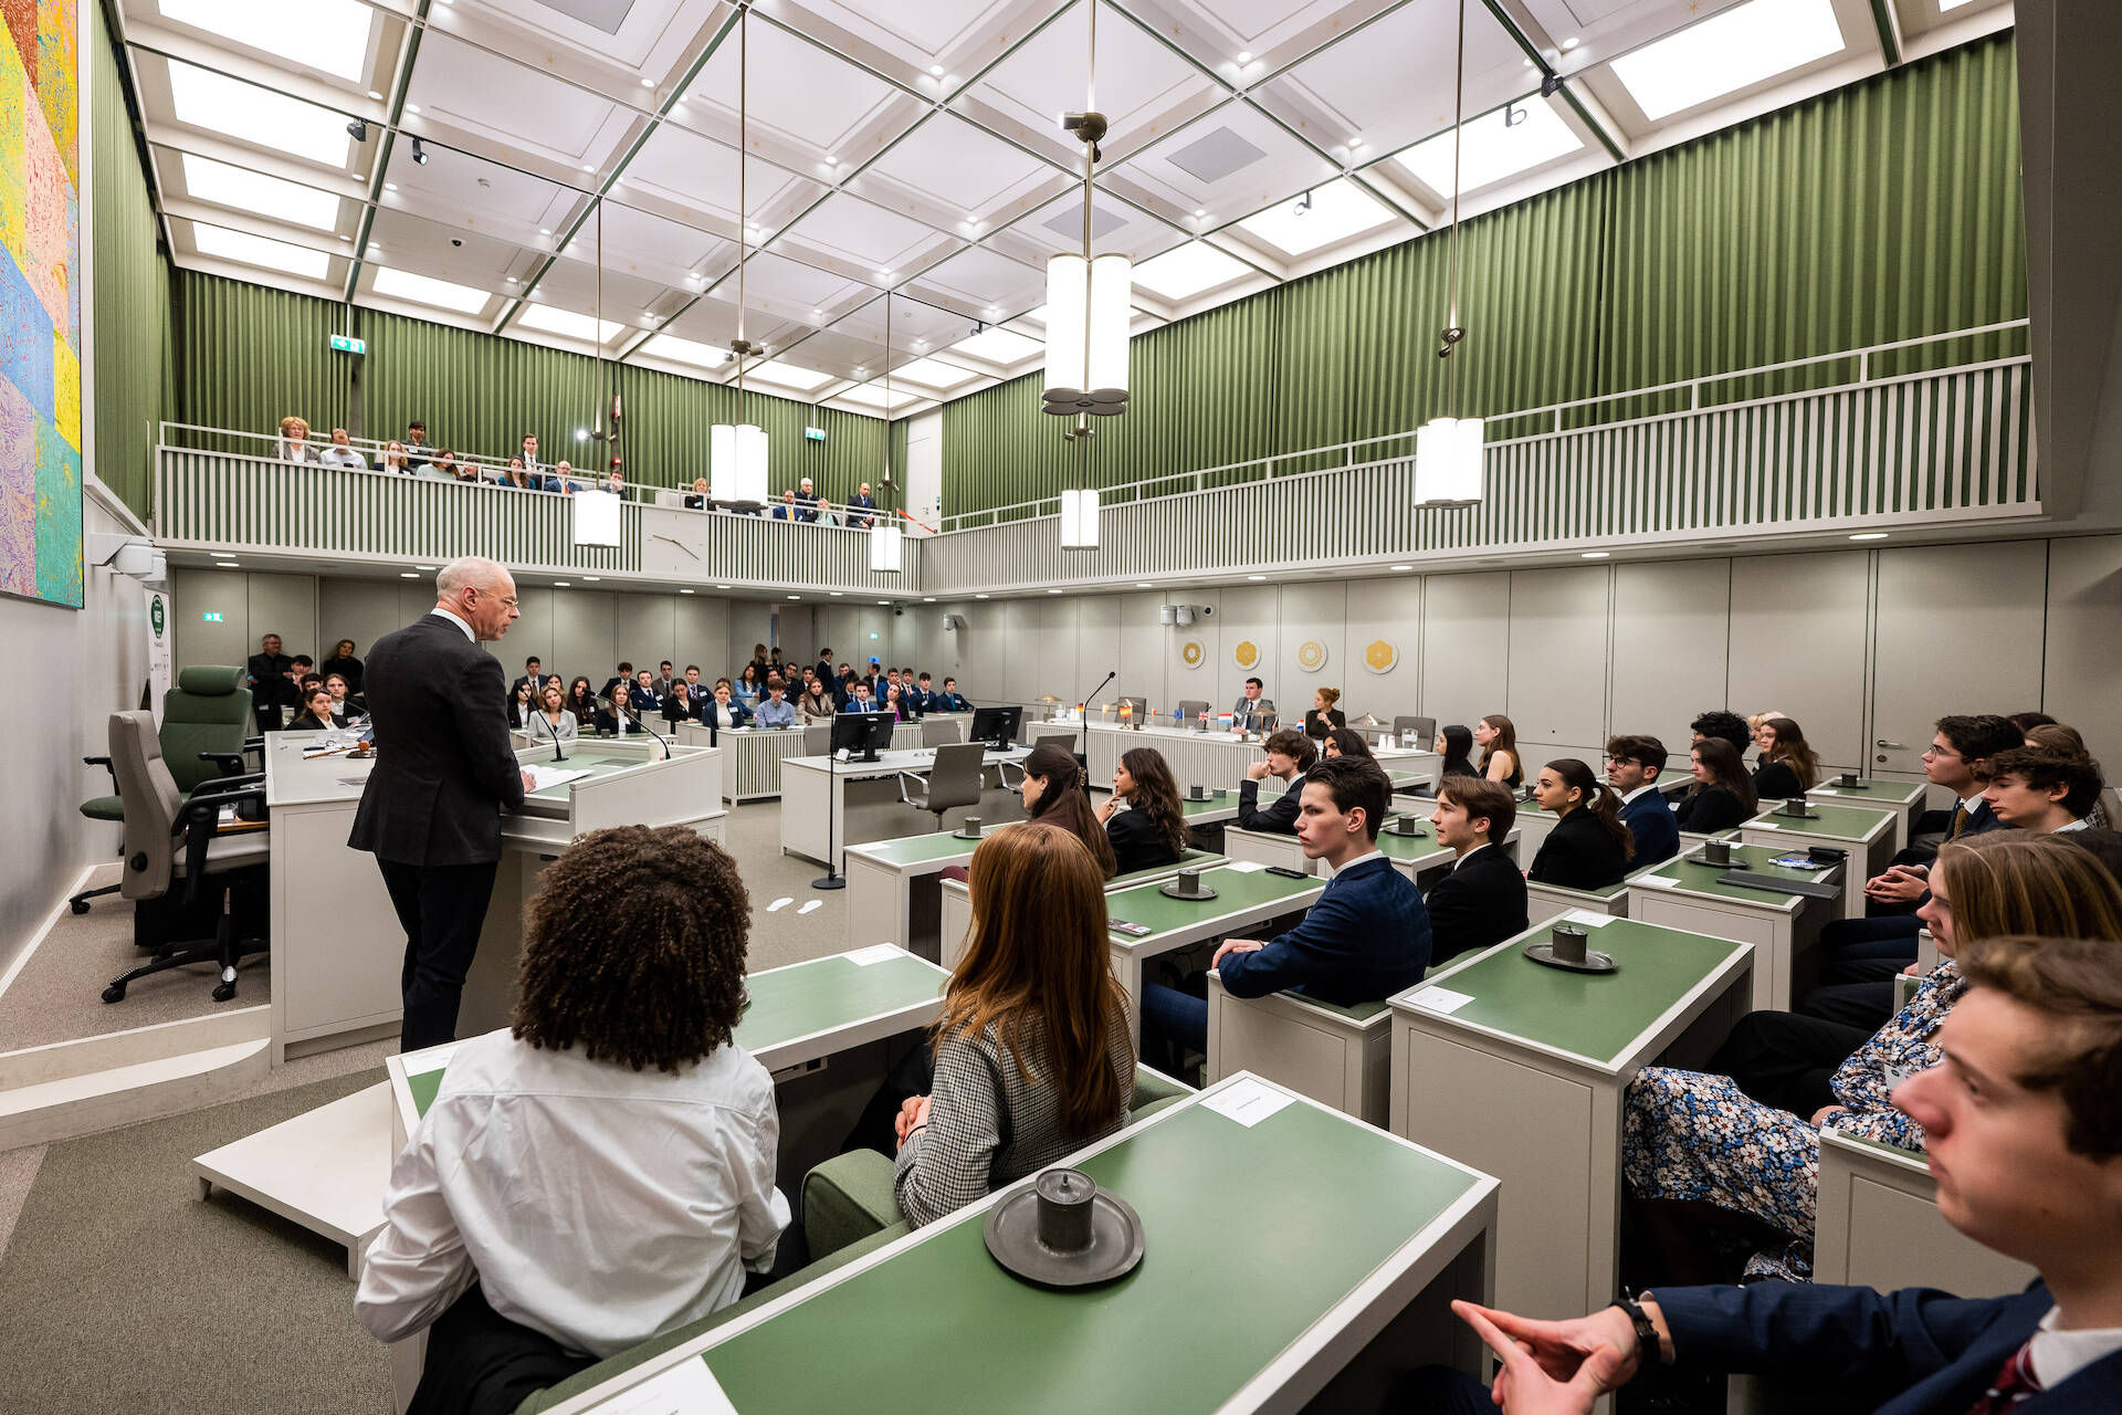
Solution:
[[[1608,736],[1649,732],[1666,745],[1668,770],[1685,772],[1687,723],[1725,700],[1729,632],[1729,560],[1617,564]]]

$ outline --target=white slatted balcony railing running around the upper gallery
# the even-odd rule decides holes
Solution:
[[[577,545],[569,496],[168,446],[223,437],[174,426],[157,452],[155,532],[174,547],[327,562],[412,569],[482,554],[556,575],[904,598],[1097,588],[1152,575],[1360,571],[1396,560],[1679,545],[1717,535],[2031,520],[2041,516],[2041,501],[2027,354],[1880,373],[1891,352],[2018,337],[2022,329],[2022,320],[1990,325],[1511,414],[1492,426],[1536,431],[1490,441],[1485,494],[1473,507],[1413,505],[1411,435],[1108,488],[1095,552],[1061,549],[1053,501],[951,518],[936,537],[908,535],[898,573],[870,571],[866,530],[639,501],[620,507],[618,545]],[[1723,397],[1729,380],[1759,386],[1763,375],[1814,378],[1836,361],[1855,382]],[[1710,384],[1717,388],[1704,392]],[[1657,399],[1681,407],[1604,416],[1611,403],[1642,407]],[[1594,403],[1600,420],[1572,426]],[[1292,471],[1305,458],[1311,469]],[[1345,465],[1322,469],[1322,460]]]

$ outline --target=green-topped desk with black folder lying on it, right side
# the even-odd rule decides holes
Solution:
[[[1821,942],[1821,925],[1836,916],[1838,902],[1717,883],[1732,870],[1814,885],[1842,883],[1842,866],[1791,870],[1770,863],[1778,853],[1782,851],[1759,844],[1734,844],[1729,866],[1706,866],[1700,861],[1702,851],[1693,849],[1638,870],[1628,876],[1628,916],[1753,944],[1753,1008],[1789,1012],[1793,999],[1812,989],[1812,948]]]

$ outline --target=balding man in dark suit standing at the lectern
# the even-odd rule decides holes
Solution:
[[[480,647],[516,622],[516,579],[477,556],[435,575],[435,609],[369,651],[376,770],[354,813],[405,929],[401,1050],[456,1037],[456,1003],[501,861],[501,810],[530,772],[509,749],[501,660]]]

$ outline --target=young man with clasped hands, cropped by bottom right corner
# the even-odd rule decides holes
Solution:
[[[1572,1322],[1451,1307],[1502,1358],[1494,1404],[1430,1366],[1409,1411],[1585,1415],[1638,1368],[1774,1373],[1878,1415],[2122,1409],[2122,969],[2114,944],[1963,944],[1944,1061],[1893,1103],[1923,1124],[1937,1211],[2039,1279],[2014,1296],[1755,1283],[1642,1292]],[[1655,1349],[1653,1349],[1655,1345]]]

